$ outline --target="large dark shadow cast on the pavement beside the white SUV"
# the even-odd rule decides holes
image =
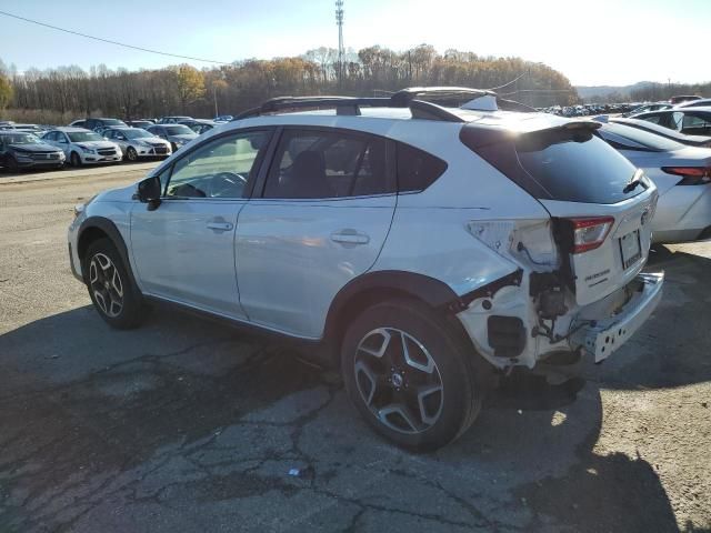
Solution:
[[[594,382],[507,382],[462,439],[411,455],[331,373],[188,314],[42,319],[0,336],[0,372],[3,532],[675,529],[645,461],[592,451]]]

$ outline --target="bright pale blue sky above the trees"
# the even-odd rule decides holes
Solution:
[[[440,51],[518,56],[560,70],[574,84],[711,81],[711,63],[703,58],[711,0],[346,0],[344,9],[344,41],[354,49],[403,50],[427,42]],[[227,62],[337,46],[331,0],[1,0],[0,10]],[[2,16],[0,37],[0,59],[19,70],[179,62]]]

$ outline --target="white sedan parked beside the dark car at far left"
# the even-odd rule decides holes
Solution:
[[[118,163],[123,159],[121,148],[99,133],[83,128],[56,128],[42,140],[60,148],[72,167],[92,163]]]

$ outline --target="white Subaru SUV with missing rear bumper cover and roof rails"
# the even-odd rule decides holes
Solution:
[[[298,340],[380,434],[442,446],[497,373],[600,362],[661,298],[654,184],[599,124],[520,109],[268,101],[78,207],[72,270],[116,328],[159,301]]]

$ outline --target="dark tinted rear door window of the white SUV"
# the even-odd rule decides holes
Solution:
[[[389,190],[387,143],[340,131],[284,132],[269,172],[264,198],[347,198]]]

